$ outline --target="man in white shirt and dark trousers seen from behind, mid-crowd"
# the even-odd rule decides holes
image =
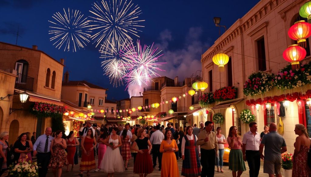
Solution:
[[[156,167],[156,158],[158,157],[159,161],[159,171],[161,171],[161,161],[162,161],[162,153],[160,153],[160,145],[162,140],[164,139],[164,134],[160,132],[160,125],[156,126],[156,131],[151,134],[150,142],[152,144],[152,161],[153,168]]]

